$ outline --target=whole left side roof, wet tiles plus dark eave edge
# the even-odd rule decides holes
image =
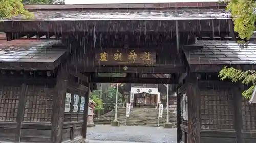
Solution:
[[[66,49],[54,47],[59,40],[0,40],[0,69],[53,70]]]

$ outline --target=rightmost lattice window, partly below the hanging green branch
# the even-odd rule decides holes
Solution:
[[[245,99],[242,101],[242,121],[243,130],[256,130],[256,105]]]

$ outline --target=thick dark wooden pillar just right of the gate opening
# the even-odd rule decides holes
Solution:
[[[197,73],[188,73],[186,77],[186,95],[188,111],[188,143],[200,143],[200,92]]]

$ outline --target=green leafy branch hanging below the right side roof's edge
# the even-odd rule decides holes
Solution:
[[[245,85],[251,85],[249,89],[245,90],[242,93],[243,97],[245,97],[246,99],[250,99],[256,84],[255,70],[241,71],[235,68],[224,67],[219,72],[219,77],[221,78],[221,80],[230,79],[232,82],[242,81],[242,83]]]

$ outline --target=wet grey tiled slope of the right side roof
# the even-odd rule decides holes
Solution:
[[[185,49],[188,64],[256,64],[256,41],[250,41],[247,49],[241,49],[234,41],[198,41],[202,49]]]

